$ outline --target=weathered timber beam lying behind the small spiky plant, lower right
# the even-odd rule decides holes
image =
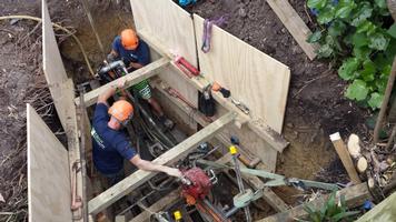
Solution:
[[[340,191],[337,191],[336,201],[339,200],[340,195],[345,196],[345,201],[348,208],[355,208],[362,205],[366,200],[372,199],[366,183],[360,183],[358,185],[345,188]],[[323,204],[326,203],[328,196],[329,195],[318,198],[306,204],[309,204],[314,209],[319,210],[323,206]],[[305,204],[300,204],[288,211],[258,220],[257,222],[284,222],[284,221],[294,221],[296,219],[301,219],[308,215],[308,213],[304,210],[304,205]]]

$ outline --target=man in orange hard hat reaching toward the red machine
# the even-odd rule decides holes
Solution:
[[[118,88],[122,88],[120,83]],[[158,165],[142,160],[132,148],[126,133],[121,130],[133,115],[133,107],[126,100],[116,101],[110,109],[107,100],[116,93],[117,88],[110,88],[99,95],[92,120],[92,154],[96,169],[113,185],[123,178],[123,159],[137,168],[147,171],[165,172],[171,176],[181,176],[178,169]]]

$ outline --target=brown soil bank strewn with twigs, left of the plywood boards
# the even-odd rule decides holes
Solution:
[[[0,2],[0,16],[40,17],[39,1]],[[27,221],[26,103],[36,109],[51,98],[41,70],[41,29],[33,21],[0,21],[0,221]],[[42,100],[38,101],[40,93]],[[51,105],[48,123],[52,122]]]

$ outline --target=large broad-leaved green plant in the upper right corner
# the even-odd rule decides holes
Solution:
[[[396,54],[396,24],[386,0],[307,0],[321,27],[307,41],[333,59],[350,82],[345,95],[373,110],[380,107]]]

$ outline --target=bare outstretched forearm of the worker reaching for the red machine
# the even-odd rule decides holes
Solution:
[[[139,168],[140,170],[146,171],[157,171],[167,173],[170,176],[181,178],[181,172],[176,168],[169,168],[166,165],[155,164],[150,161],[142,160],[139,154],[136,154],[133,158],[129,160],[133,165]]]

